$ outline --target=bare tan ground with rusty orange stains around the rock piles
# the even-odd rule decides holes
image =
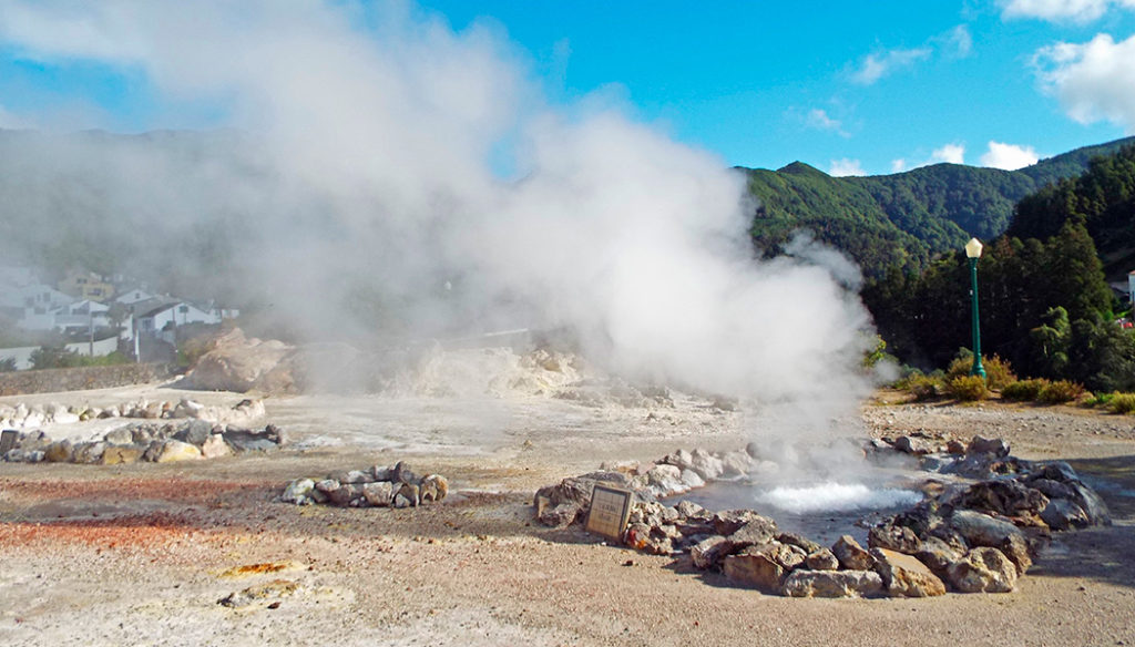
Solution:
[[[495,405],[478,431],[460,404],[334,404],[269,401],[299,440],[276,454],[0,463],[0,645],[1135,644],[1135,418],[880,393],[863,407],[872,434],[1003,436],[1023,457],[1069,460],[1116,524],[1060,536],[1012,594],[824,600],[733,588],[687,558],[531,521],[537,487],[602,460],[734,447],[739,414],[678,403],[646,422],[644,410],[532,400]],[[276,501],[297,476],[396,460],[446,474],[451,497],[417,510]]]

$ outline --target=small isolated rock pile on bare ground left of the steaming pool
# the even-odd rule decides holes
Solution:
[[[417,507],[437,503],[448,493],[449,481],[442,474],[419,477],[400,461],[392,467],[336,472],[323,479],[299,478],[284,488],[280,501],[296,505]]]

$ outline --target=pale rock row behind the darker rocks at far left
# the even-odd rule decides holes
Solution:
[[[190,398],[182,398],[177,404],[168,401],[150,402],[141,398],[106,409],[86,405],[68,406],[61,403],[28,406],[19,403],[16,406],[0,404],[0,428],[35,429],[43,425],[69,425],[106,418],[141,418],[146,420],[192,418],[221,425],[246,425],[263,414],[264,403],[260,400],[242,400],[232,407],[205,406]]]

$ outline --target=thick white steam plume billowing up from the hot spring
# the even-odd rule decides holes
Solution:
[[[0,41],[143,78],[174,124],[215,115],[191,142],[27,154],[93,178],[96,204],[68,207],[162,250],[150,267],[207,247],[212,264],[173,269],[225,274],[311,338],[571,327],[636,378],[764,402],[868,387],[854,267],[804,240],[754,260],[743,177],[603,98],[548,106],[490,26],[454,33],[403,3],[5,1]],[[101,118],[76,115],[40,126]],[[519,179],[494,174],[502,150]]]

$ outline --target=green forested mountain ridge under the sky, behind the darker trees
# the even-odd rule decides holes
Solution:
[[[793,230],[809,229],[848,253],[866,276],[878,278],[889,267],[918,271],[970,236],[1000,235],[1026,195],[1130,144],[1135,137],[1085,146],[1016,171],[940,163],[893,175],[832,177],[802,162],[775,171],[740,170],[758,201],[751,234],[759,247],[776,252]]]

